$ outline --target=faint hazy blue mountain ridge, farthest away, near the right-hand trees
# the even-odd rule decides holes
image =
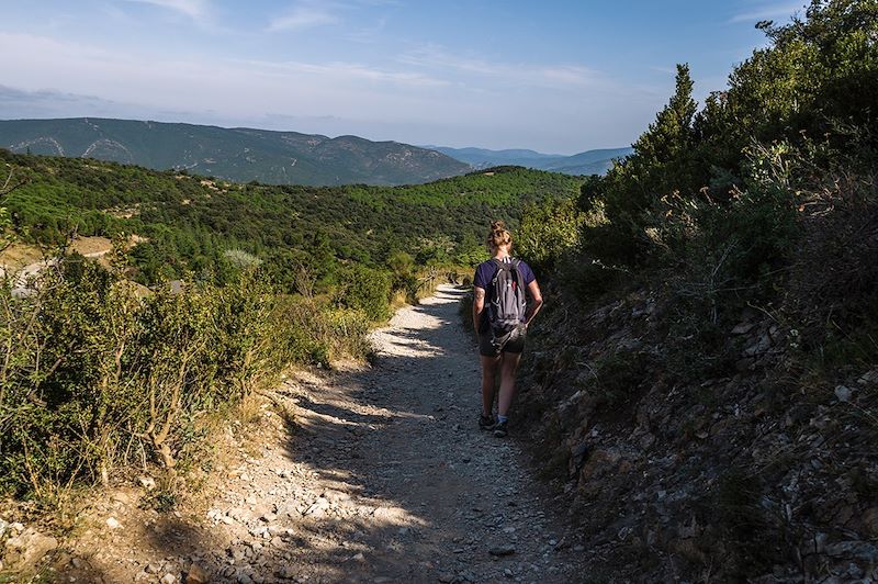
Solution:
[[[487,168],[497,165],[516,165],[538,170],[551,170],[565,175],[604,175],[616,158],[624,158],[633,148],[604,148],[587,150],[573,156],[542,154],[527,149],[488,150],[486,148],[449,148],[447,146],[424,146],[451,158]]]

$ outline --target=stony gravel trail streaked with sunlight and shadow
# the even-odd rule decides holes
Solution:
[[[264,446],[207,508],[168,517],[124,493],[99,506],[79,566],[105,582],[582,581],[582,547],[518,447],[476,427],[461,294],[398,311],[372,368],[288,380],[274,400],[293,422],[266,411]]]

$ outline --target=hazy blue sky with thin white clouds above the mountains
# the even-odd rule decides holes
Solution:
[[[804,1],[0,0],[0,117],[573,154],[633,142]]]

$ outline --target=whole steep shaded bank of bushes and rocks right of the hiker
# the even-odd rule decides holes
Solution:
[[[758,27],[521,227],[553,271],[520,413],[594,577],[877,575],[878,7]]]

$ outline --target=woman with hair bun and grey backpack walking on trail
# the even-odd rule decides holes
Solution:
[[[528,325],[542,306],[542,294],[530,266],[511,256],[513,235],[502,221],[491,224],[487,246],[493,257],[479,265],[473,278],[473,326],[479,335],[482,361],[479,427],[494,430],[494,436],[503,438]],[[498,368],[500,392],[495,418],[494,381]]]

